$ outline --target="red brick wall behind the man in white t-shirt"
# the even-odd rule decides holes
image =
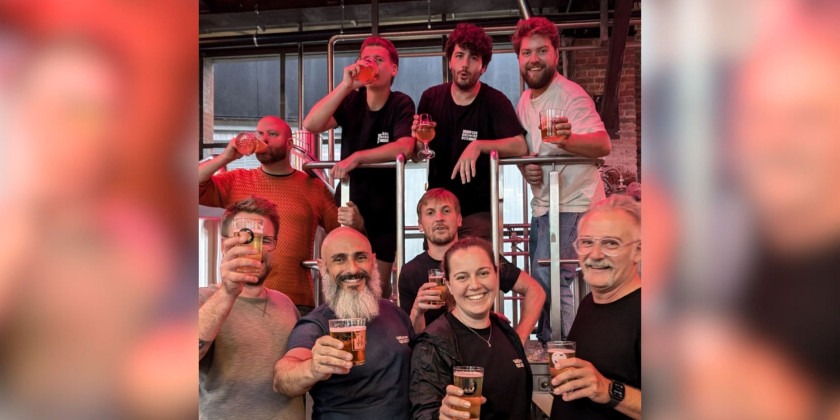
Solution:
[[[628,42],[638,42],[641,31]],[[597,38],[567,39],[566,45],[600,45]],[[604,94],[609,45],[598,49],[570,51],[569,79],[580,84],[591,96]],[[613,139],[612,153],[606,165],[618,168],[626,182],[639,179],[641,157],[641,48],[628,47],[624,52],[624,65],[619,83],[618,115],[619,138]]]

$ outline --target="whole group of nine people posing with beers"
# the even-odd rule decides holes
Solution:
[[[399,69],[396,48],[384,38],[365,40],[360,62],[377,63],[378,76],[361,82],[360,62],[345,67],[340,85],[303,123],[314,132],[342,127],[341,161],[332,175],[352,173],[350,197],[334,199],[320,180],[292,168],[291,129],[277,117],[257,125],[267,146],[256,154],[259,168],[216,174],[241,157],[233,144],[199,166],[200,203],[227,208],[222,281],[200,291],[202,418],[303,418],[307,392],[313,418],[468,418],[457,410],[468,404],[459,398],[463,389],[452,385],[452,369],[461,365],[485,367],[481,418],[530,417],[532,377],[523,344],[538,322],[537,338],[551,338],[548,273],[537,264],[551,244],[548,168],[520,168],[534,193],[535,279],[510,263],[494,263],[488,155],[601,157],[610,142],[591,98],[556,71],[556,26],[540,17],[520,21],[513,43],[529,87],[516,108],[479,80],[492,39],[475,25],[459,24],[445,48],[452,82],[427,89],[415,113],[411,98],[391,91]],[[546,108],[566,116],[555,123],[560,136],[552,143],[539,134],[539,112]],[[403,267],[397,306],[390,300],[395,181],[359,165],[413,156],[422,113],[436,124],[430,189],[417,205],[428,250]],[[578,257],[592,293],[575,317],[570,285],[576,267],[564,269],[564,325],[556,328],[577,341],[578,350],[565,362],[568,369],[552,378],[552,418],[639,418],[638,203],[603,200],[594,167],[569,166],[561,176],[561,258]],[[231,228],[241,217],[264,222],[261,260],[247,258],[253,236]],[[311,257],[318,226],[328,234],[318,258],[324,303],[316,308],[300,263]],[[243,273],[248,267],[258,274]],[[430,268],[442,268],[448,303],[428,282]],[[500,290],[523,295],[516,326],[492,312]],[[365,320],[362,365],[354,365],[349,349],[330,336],[329,321],[346,318]]]

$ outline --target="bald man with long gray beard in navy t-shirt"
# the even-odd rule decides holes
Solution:
[[[314,400],[313,419],[409,418],[409,366],[414,330],[393,302],[380,299],[376,255],[358,231],[340,227],[324,239],[318,268],[326,303],[301,318],[289,351],[274,365],[274,390]],[[332,319],[366,322],[365,363],[330,337]]]

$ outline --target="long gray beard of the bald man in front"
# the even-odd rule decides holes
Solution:
[[[332,308],[340,319],[363,318],[371,321],[379,315],[379,296],[382,296],[382,285],[379,283],[379,272],[374,268],[371,276],[364,270],[358,273],[340,274],[335,279],[329,273],[322,273],[321,292],[327,305]],[[363,279],[365,284],[361,289],[344,289],[341,283],[345,280]]]

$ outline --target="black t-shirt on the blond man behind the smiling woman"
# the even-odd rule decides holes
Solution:
[[[414,301],[417,299],[417,291],[420,290],[423,283],[429,282],[429,270],[432,268],[441,268],[440,261],[429,256],[428,252],[414,257],[413,260],[403,265],[402,270],[400,270],[399,290],[400,308],[405,313],[411,315],[411,307],[414,306]],[[505,293],[513,289],[520,273],[522,273],[522,270],[515,265],[502,262],[501,267],[499,267],[499,289]],[[430,325],[444,312],[446,312],[445,308],[426,311],[424,314],[426,325]]]

